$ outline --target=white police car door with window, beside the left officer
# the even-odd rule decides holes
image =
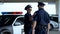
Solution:
[[[23,17],[18,18],[13,24],[13,34],[23,34]]]

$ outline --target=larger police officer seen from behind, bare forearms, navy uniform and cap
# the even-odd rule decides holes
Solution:
[[[43,9],[45,4],[43,2],[38,2],[38,11],[34,13],[33,17],[33,30],[32,34],[48,34],[47,30],[49,31],[49,14]]]

